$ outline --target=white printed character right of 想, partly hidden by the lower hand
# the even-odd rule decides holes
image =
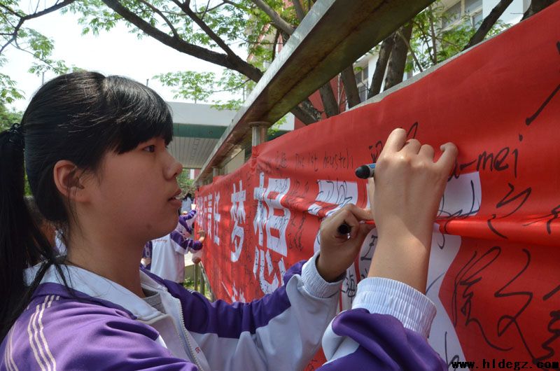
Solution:
[[[344,207],[346,204],[358,202],[358,183],[353,181],[326,181],[318,180],[319,191],[307,212],[316,216],[325,217]],[[313,251],[317,252],[321,244],[319,232],[315,238]]]

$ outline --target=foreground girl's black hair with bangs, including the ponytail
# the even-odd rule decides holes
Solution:
[[[68,235],[71,204],[53,179],[59,160],[96,172],[109,151],[126,153],[154,137],[169,144],[172,134],[169,106],[156,92],[129,78],[88,71],[45,83],[31,99],[19,130],[0,133],[0,340],[46,269],[54,264],[62,273],[24,202],[24,157],[38,210]],[[18,136],[22,143],[15,140]],[[43,260],[34,283],[26,286],[23,270]]]

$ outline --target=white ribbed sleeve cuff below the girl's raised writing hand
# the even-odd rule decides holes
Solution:
[[[381,277],[370,277],[358,283],[352,308],[364,308],[370,313],[389,314],[405,328],[430,335],[435,304],[420,291],[406,283]]]

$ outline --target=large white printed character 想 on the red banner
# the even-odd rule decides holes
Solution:
[[[255,246],[255,260],[253,274],[260,281],[263,293],[272,293],[281,284],[281,278],[286,272],[283,258],[278,262],[280,276],[276,276],[270,250],[282,256],[288,255],[286,244],[286,228],[290,221],[290,210],[281,205],[281,200],[290,190],[290,179],[268,179],[265,188],[265,174],[260,173],[259,186],[253,191],[253,198],[258,201],[257,211],[253,220],[255,234],[258,235],[258,246]],[[266,232],[266,241],[265,241]],[[263,248],[261,250],[261,248]],[[265,262],[267,275],[272,276],[269,281],[265,278]],[[257,276],[257,272],[258,276]]]

